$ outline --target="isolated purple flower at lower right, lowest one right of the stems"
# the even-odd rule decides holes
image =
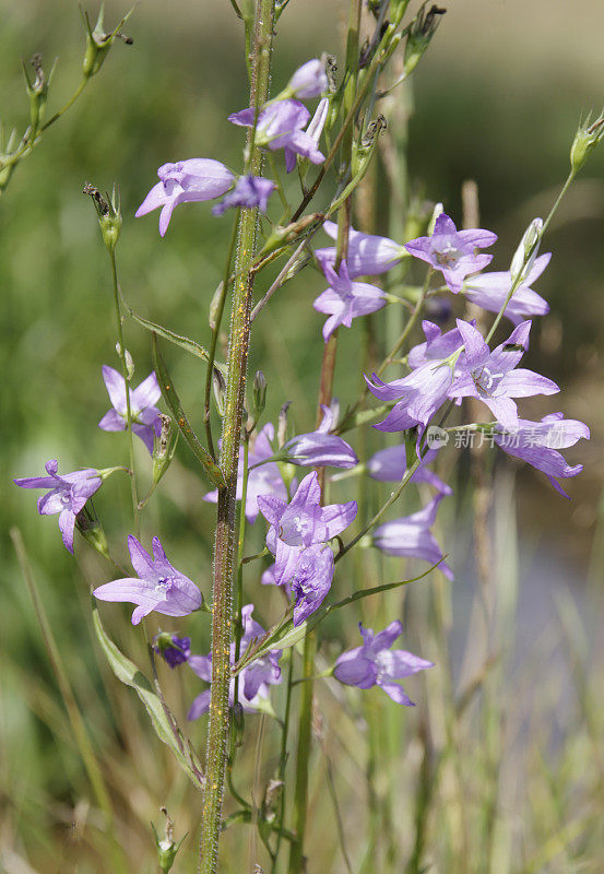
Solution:
[[[358,627],[363,646],[340,656],[333,669],[334,677],[346,686],[357,686],[359,689],[381,686],[396,704],[414,707],[403,687],[395,681],[416,674],[426,668],[434,668],[433,662],[403,649],[390,649],[403,633],[403,626],[398,619],[377,635],[374,635],[371,628],[364,628],[362,623]]]

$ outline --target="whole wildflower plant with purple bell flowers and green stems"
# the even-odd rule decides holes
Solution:
[[[287,849],[289,874],[301,874],[306,857],[312,853],[306,825],[316,683],[337,681],[364,695],[372,694],[369,689],[378,685],[393,702],[410,706],[412,700],[399,683],[405,678],[421,709],[422,686],[416,685],[414,675],[426,669],[439,670],[428,641],[422,646],[422,656],[392,649],[403,634],[400,602],[383,602],[384,610],[394,614],[386,617],[383,630],[374,634],[359,626],[363,645],[355,649],[350,649],[345,639],[323,637],[324,619],[335,611],[369,598],[377,601],[386,591],[419,579],[413,578],[405,562],[427,562],[428,574],[453,578],[454,568],[446,560],[450,546],[441,541],[440,532],[433,532],[440,505],[450,500],[452,489],[434,469],[440,452],[429,445],[430,427],[438,426],[443,434],[490,434],[505,453],[543,471],[561,494],[566,493],[558,480],[576,476],[582,465],[567,462],[559,450],[589,439],[589,429],[559,412],[538,423],[519,413],[523,399],[559,391],[547,377],[518,366],[529,347],[531,319],[548,311],[548,304],[531,285],[547,267],[549,253],[538,256],[538,250],[559,200],[545,221],[531,224],[513,257],[497,250],[495,233],[477,227],[458,231],[439,206],[424,211],[415,233],[410,227],[401,239],[372,233],[379,228],[367,222],[363,229],[353,226],[359,185],[371,162],[378,160],[377,143],[384,121],[376,115],[387,93],[384,83],[390,82],[387,91],[391,91],[416,74],[416,68],[421,70],[419,61],[445,10],[424,5],[413,16],[406,0],[371,0],[367,5],[351,0],[337,79],[328,60],[309,59],[292,70],[277,96],[271,97],[272,58],[279,51],[276,25],[287,26],[288,3],[232,0],[232,5],[242,23],[249,63],[248,105],[230,115],[225,111],[224,117],[225,130],[232,122],[236,126],[232,133],[245,138],[239,166],[232,169],[212,155],[166,155],[157,170],[159,181],[149,180],[150,190],[140,192],[138,209],[120,204],[116,192],[105,198],[86,187],[108,255],[120,362],[120,371],[103,365],[111,409],[98,427],[126,433],[126,457],[117,459],[126,465],[84,468],[61,475],[58,462],[49,461],[47,476],[15,483],[26,489],[48,489],[38,501],[38,511],[59,513],[63,542],[73,552],[74,529],[86,530],[85,512],[92,513],[92,497],[103,481],[118,471],[128,476],[132,522],[123,532],[121,548],[128,545],[135,576],[118,565],[115,578],[95,582],[92,594],[95,602],[135,605],[132,625],[140,624],[153,638],[149,652],[154,685],[140,680],[139,668],[110,640],[95,603],[94,627],[102,649],[117,677],[135,688],[158,736],[201,793],[201,874],[220,870],[221,836],[237,818],[258,829],[273,872],[285,871]],[[84,84],[98,72],[119,36],[118,28],[104,33],[102,16],[94,29],[87,16],[85,21]],[[362,22],[366,43],[360,40]],[[394,58],[399,73],[392,81],[389,66]],[[48,82],[39,67],[35,81],[27,80],[31,126],[21,144],[0,156],[0,190],[50,123],[43,123]],[[582,126],[562,193],[601,137],[601,120]],[[166,234],[174,210],[182,203],[204,209],[203,201],[212,202],[214,215],[228,210],[232,216],[230,235],[225,229],[222,241],[223,282],[212,300],[209,295],[202,302],[211,310],[206,347],[137,316],[121,296],[117,267],[122,222],[161,210],[159,235],[165,237],[162,245],[167,246],[170,235],[178,233],[173,226]],[[453,212],[454,206],[449,209]],[[146,227],[149,234],[156,233],[151,222]],[[334,245],[325,245],[323,235]],[[484,251],[487,248],[489,252]],[[509,270],[483,272],[496,255],[510,261]],[[274,264],[280,268],[276,275]],[[250,389],[247,371],[254,320],[262,318],[276,293],[287,296],[289,280],[300,273],[308,290],[309,318],[316,319],[324,345],[318,366],[316,423],[296,432],[286,409],[279,421],[273,420],[276,427],[264,420],[265,380],[257,375]],[[391,274],[396,279],[391,280]],[[412,285],[416,280],[418,284]],[[426,318],[436,294],[452,295],[460,314],[445,332]],[[484,321],[486,327],[481,329],[471,318],[462,318],[466,315],[463,298],[482,307],[487,319],[496,314],[490,324]],[[313,310],[328,316],[322,326]],[[369,326],[383,323],[379,319],[400,319],[402,311],[406,318],[389,351],[339,361],[341,329],[360,336]],[[127,315],[151,333],[152,341],[152,361],[141,364],[143,373],[151,367],[152,371],[137,387],[132,385],[134,363],[125,346]],[[514,328],[496,344],[502,318],[511,320]],[[228,334],[225,361],[221,354],[223,331]],[[182,408],[164,359],[168,343],[194,355],[204,370],[203,398],[197,410]],[[337,394],[346,398],[342,405],[333,397],[340,368],[346,377],[337,386]],[[481,421],[469,418],[464,401],[469,398],[482,402]],[[282,400],[287,399],[270,399],[271,403]],[[222,427],[220,437],[216,421]],[[95,424],[91,420],[91,427]],[[389,442],[383,433],[392,435]],[[144,498],[139,491],[143,475],[135,465],[135,436],[150,457],[146,475],[152,484]],[[114,440],[118,457],[118,437],[108,436],[107,440]],[[149,501],[162,491],[159,481],[170,475],[176,451],[192,453],[201,481],[199,498],[216,507],[212,579],[199,575],[194,563],[181,563],[178,540],[152,531],[144,516]],[[305,468],[313,470],[306,472]],[[332,496],[340,482],[354,482],[353,477],[357,482],[363,477],[358,500]],[[380,483],[396,485],[384,498]],[[431,495],[427,500],[419,491],[424,488]],[[367,500],[366,491],[371,489],[374,497]],[[412,511],[406,501],[403,505],[403,493],[405,498],[413,495]],[[248,545],[258,538],[260,551],[248,554]],[[151,553],[143,545],[150,541]],[[111,572],[119,547],[96,541]],[[401,572],[395,581],[366,584],[357,572],[363,562],[355,568],[351,553],[370,548],[396,557]],[[180,567],[191,576],[177,569]],[[422,579],[422,586],[430,586],[426,572]],[[256,597],[267,591],[261,590],[261,582],[277,587],[271,604],[279,594],[282,606],[261,615],[260,623],[251,614]],[[399,605],[393,606],[395,603]],[[109,615],[114,609],[104,605],[102,612]],[[196,613],[200,616],[193,623],[190,617]],[[351,614],[352,609],[341,615]],[[176,617],[176,630],[162,630],[158,623],[164,616]],[[348,626],[356,628],[357,619],[348,619]],[[201,623],[211,629],[208,654],[199,654],[203,650],[196,639]],[[323,640],[330,642],[324,649]],[[155,657],[173,669],[170,682],[177,671],[190,669],[205,684],[190,704],[188,717],[194,723],[187,732],[180,727],[180,714],[166,705]],[[276,686],[286,687],[279,699]],[[354,689],[344,689],[343,706],[348,694],[354,695]],[[297,733],[294,699],[299,713]],[[275,720],[281,733],[282,755],[274,779],[288,803],[277,804],[271,815],[269,807],[258,807],[251,787],[236,791],[232,779],[239,746],[246,743],[248,720],[259,712]],[[206,721],[205,757],[197,749],[198,720]],[[288,760],[293,767],[287,767]],[[227,783],[236,810],[225,819]],[[162,870],[168,871],[179,845],[171,838],[169,848],[164,843],[157,846],[164,853]]]

